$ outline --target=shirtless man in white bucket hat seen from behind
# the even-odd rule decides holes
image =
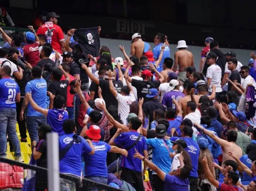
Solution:
[[[179,41],[178,47],[176,48],[178,48],[179,50],[174,54],[173,71],[176,72],[179,65],[178,77],[182,82],[184,82],[187,79],[186,71],[184,70],[184,68],[194,66],[194,58],[193,54],[186,49],[186,41]]]

